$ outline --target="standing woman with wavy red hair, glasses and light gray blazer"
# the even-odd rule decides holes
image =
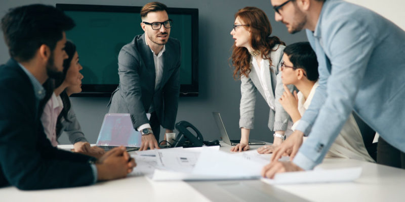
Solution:
[[[235,14],[230,34],[235,40],[231,57],[235,67],[233,77],[241,80],[241,139],[231,151],[250,148],[249,133],[253,129],[256,94],[259,91],[270,107],[268,127],[274,131],[274,141],[273,146],[262,146],[258,152],[271,153],[275,146],[286,139],[286,131],[291,131],[290,116],[278,102],[285,89],[293,89],[293,86],[283,86],[281,82],[279,67],[285,43],[276,36],[270,36],[271,25],[266,14],[255,7],[240,9]]]

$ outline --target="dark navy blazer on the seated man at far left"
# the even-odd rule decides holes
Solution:
[[[92,184],[92,157],[53,147],[31,81],[10,59],[0,66],[0,187],[48,189]]]

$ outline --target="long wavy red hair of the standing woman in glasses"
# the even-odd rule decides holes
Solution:
[[[247,28],[251,32],[251,45],[255,50],[261,52],[261,56],[264,59],[269,60],[270,66],[272,61],[270,59],[270,53],[273,51],[273,47],[276,44],[286,45],[277,36],[270,36],[271,25],[267,18],[267,15],[256,7],[245,7],[240,9],[235,14],[235,19],[239,17],[244,24],[248,25]],[[235,43],[232,46],[232,65],[235,67],[233,70],[233,78],[240,79],[241,75],[249,77],[251,71],[250,60],[251,55],[246,47],[236,47]]]

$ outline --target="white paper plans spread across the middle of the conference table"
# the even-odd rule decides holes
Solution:
[[[270,159],[270,155],[259,155],[256,150],[231,154],[220,151],[219,146],[137,151],[132,157],[137,162],[133,175],[146,175],[156,181],[259,179]],[[288,161],[289,157],[281,160]],[[360,174],[361,168],[317,169],[262,180],[269,184],[342,182],[353,181]]]

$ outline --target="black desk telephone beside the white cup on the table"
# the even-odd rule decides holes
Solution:
[[[173,142],[173,147],[195,147],[204,145],[203,135],[201,135],[197,128],[191,125],[191,123],[188,123],[187,121],[180,121],[175,127],[179,131],[179,134]],[[187,128],[194,130],[197,136],[191,133]]]

